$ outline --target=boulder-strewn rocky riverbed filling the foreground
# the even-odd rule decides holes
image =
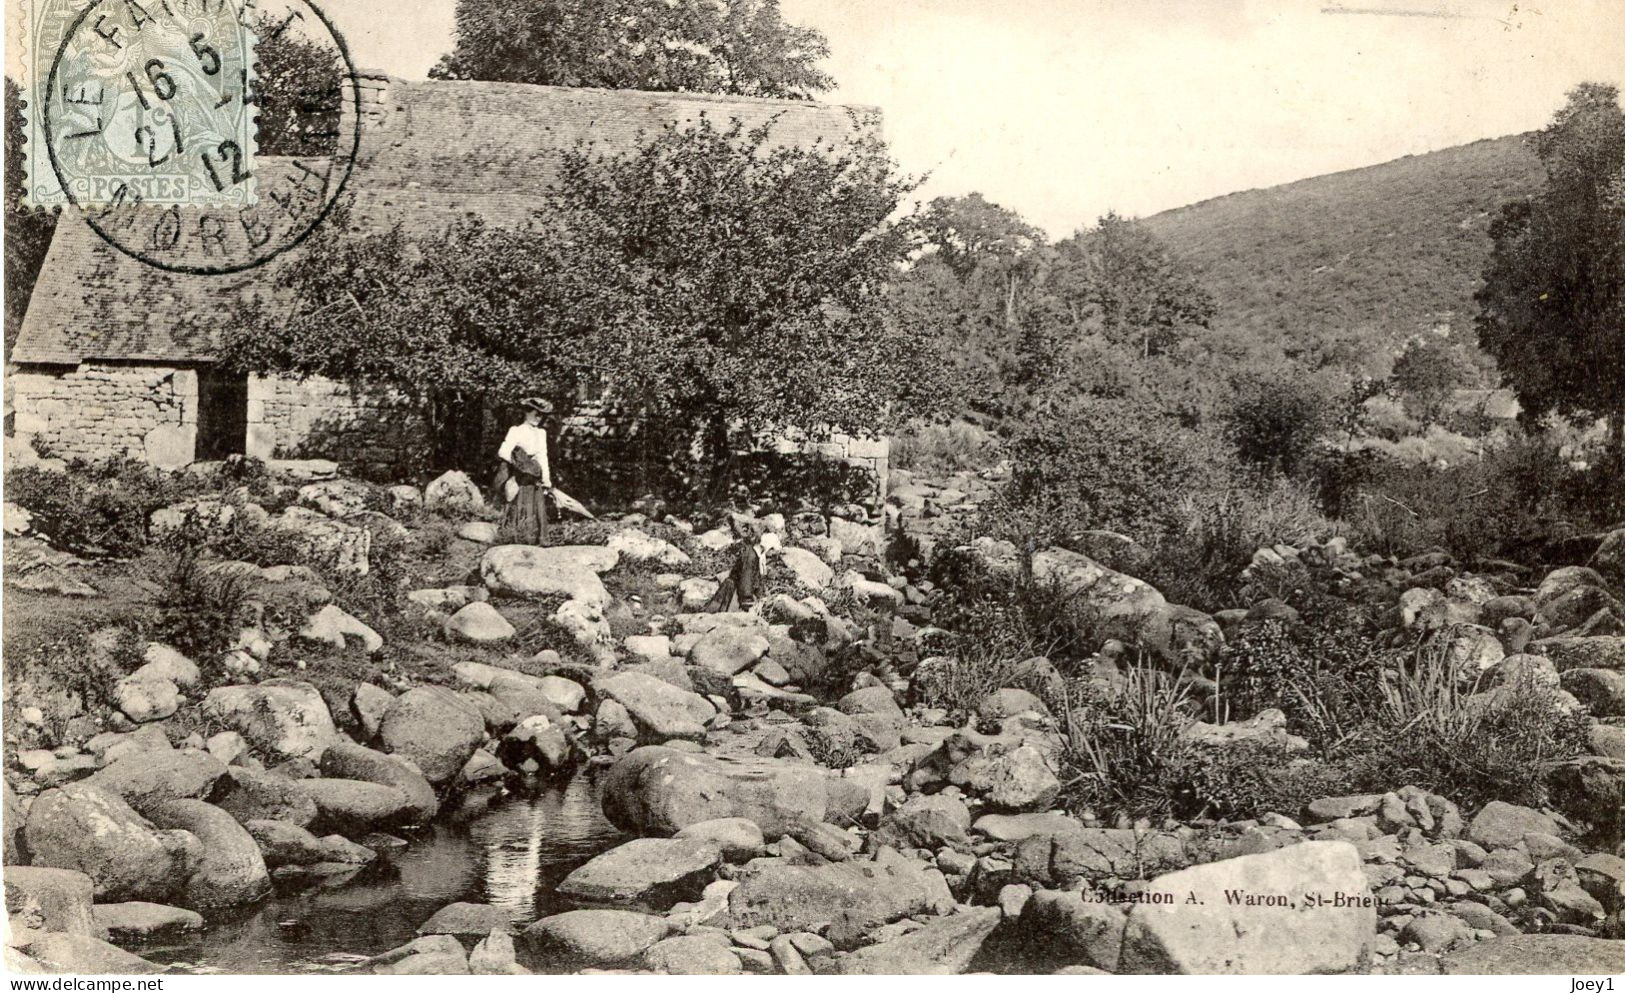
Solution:
[[[1580,796],[1570,806],[1462,811],[1396,782],[1228,822],[1107,824],[1061,808],[1068,715],[1027,689],[1048,660],[967,709],[921,699],[952,666],[933,655],[939,590],[887,551],[899,533],[913,554],[946,551],[928,546],[975,507],[980,476],[900,479],[873,514],[751,518],[772,583],[741,613],[694,613],[715,590],[728,520],[635,514],[592,541],[533,548],[494,544],[465,478],[390,489],[395,517],[366,484],[294,489],[276,515],[228,494],[151,527],[249,515],[297,535],[325,572],[211,569],[302,603],[299,624],[247,624],[219,658],[146,644],[106,687],[109,712],[75,715],[49,748],[8,728],[15,969],[1625,969],[1625,860],[1599,842],[1625,762],[1610,723],[1625,715],[1625,611],[1610,593],[1625,538],[1537,582],[1339,543],[1261,549],[1250,567],[1261,585],[1292,570],[1386,583],[1394,634],[1445,631],[1453,657],[1497,674],[1485,691],[1514,676],[1560,686],[1594,722],[1596,754],[1552,770]],[[322,582],[366,572],[380,533],[413,541],[424,504],[462,518],[436,553],[444,585],[400,603],[400,631],[434,655],[385,663],[400,634]],[[39,546],[31,561],[94,592],[93,567],[21,536]],[[1261,596],[1202,614],[1069,549],[1024,564],[978,538],[959,554],[1064,585],[1115,642],[1170,668],[1292,611]],[[292,645],[372,663],[335,691],[322,657]],[[1113,658],[1107,645],[1094,660],[1098,683],[1121,678]],[[29,692],[8,684],[8,707],[44,726]],[[1285,723],[1264,710],[1183,733],[1290,751]]]

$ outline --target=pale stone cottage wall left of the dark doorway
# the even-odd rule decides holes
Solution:
[[[166,468],[192,462],[198,416],[192,369],[29,366],[10,379],[11,444],[57,458],[132,455]]]

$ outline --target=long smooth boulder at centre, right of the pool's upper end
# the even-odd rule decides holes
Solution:
[[[671,835],[700,821],[746,817],[777,837],[803,817],[826,817],[830,782],[816,765],[647,746],[609,769],[603,808],[616,827],[637,834]]]

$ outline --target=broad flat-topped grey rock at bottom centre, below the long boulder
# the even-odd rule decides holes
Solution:
[[[942,874],[895,852],[874,861],[791,865],[759,858],[736,873],[728,895],[733,928],[772,925],[780,933],[830,923],[824,936],[837,947],[853,947],[874,928],[952,905]]]

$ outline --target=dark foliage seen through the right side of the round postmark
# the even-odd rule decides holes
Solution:
[[[343,141],[344,67],[333,49],[301,34],[294,21],[302,20],[299,10],[250,18],[260,154],[330,156]]]

